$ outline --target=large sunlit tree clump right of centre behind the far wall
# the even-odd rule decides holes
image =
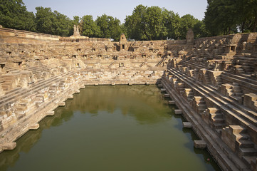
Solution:
[[[186,38],[189,28],[199,29],[198,36],[204,33],[201,21],[189,14],[180,16],[173,11],[158,6],[136,6],[131,16],[125,19],[125,28],[130,38],[135,40],[158,40],[165,38]],[[201,26],[200,28],[195,25]]]

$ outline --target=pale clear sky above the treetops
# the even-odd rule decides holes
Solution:
[[[133,9],[142,4],[144,6],[159,6],[178,13],[179,16],[191,14],[196,19],[204,19],[207,0],[23,0],[28,11],[36,13],[36,6],[51,7],[61,14],[73,19],[73,16],[92,15],[94,19],[106,14],[116,17],[123,23],[126,16],[132,14]]]

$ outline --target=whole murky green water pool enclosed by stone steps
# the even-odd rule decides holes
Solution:
[[[219,170],[156,86],[86,86],[0,154],[0,170]]]

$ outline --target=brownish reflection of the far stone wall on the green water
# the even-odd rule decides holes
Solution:
[[[92,114],[99,110],[113,113],[120,108],[122,115],[131,115],[140,124],[152,124],[167,118],[168,115],[159,115],[164,101],[156,86],[88,86],[66,103],[65,108]],[[172,115],[173,111],[170,110],[169,114]]]

